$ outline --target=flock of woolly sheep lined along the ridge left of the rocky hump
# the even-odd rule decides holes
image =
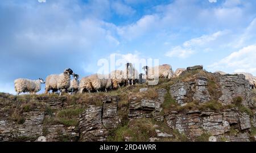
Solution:
[[[156,69],[158,68],[158,69]],[[144,66],[142,68],[145,74],[139,74],[138,71],[133,67],[132,63],[126,63],[125,70],[114,70],[110,74],[93,74],[81,78],[79,81],[79,75],[73,73],[71,69],[65,69],[61,74],[48,75],[46,82],[42,78],[38,80],[30,79],[16,79],[14,81],[15,91],[17,95],[22,92],[29,92],[35,94],[41,90],[41,83],[46,83],[46,94],[49,91],[52,92],[60,91],[68,92],[69,94],[75,94],[76,92],[92,92],[92,91],[105,91],[117,89],[123,86],[130,86],[135,83],[145,83],[147,80],[152,80],[156,75],[159,78],[172,78],[174,71],[172,71],[171,65],[159,65],[158,67]],[[158,70],[158,74],[156,73]],[[177,69],[176,75],[179,75],[185,69]],[[71,75],[73,79],[71,80]]]

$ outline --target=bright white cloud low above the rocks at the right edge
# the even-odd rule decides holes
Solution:
[[[237,52],[233,52],[229,56],[220,61],[209,65],[208,67],[214,71],[229,69],[234,72],[247,72],[256,74],[256,45],[246,46]]]

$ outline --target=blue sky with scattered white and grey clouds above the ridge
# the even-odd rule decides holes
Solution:
[[[98,59],[110,54],[158,58],[174,70],[204,65],[256,75],[256,1],[39,1],[0,3],[2,92],[14,93],[16,78],[46,78],[67,67],[97,73]]]

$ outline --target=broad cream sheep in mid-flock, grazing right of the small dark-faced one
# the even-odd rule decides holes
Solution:
[[[105,89],[107,92],[108,88],[112,88],[112,80],[109,78],[109,75],[102,74],[93,74],[82,78],[79,86],[80,93],[82,93],[84,89],[89,92],[92,90],[99,92],[99,90]]]

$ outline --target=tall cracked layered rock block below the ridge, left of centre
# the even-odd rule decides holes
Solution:
[[[118,97],[107,96],[102,106],[90,105],[79,121],[80,141],[106,141],[108,131],[118,126]]]

